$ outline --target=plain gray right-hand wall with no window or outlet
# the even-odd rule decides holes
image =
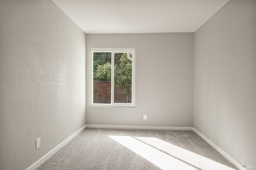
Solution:
[[[255,162],[256,1],[230,0],[194,45],[194,127],[240,164]]]

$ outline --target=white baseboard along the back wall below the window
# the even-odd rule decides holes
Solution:
[[[108,129],[148,129],[148,130],[179,130],[179,131],[193,130],[193,127],[162,127],[162,126],[86,125],[86,127],[108,128]]]

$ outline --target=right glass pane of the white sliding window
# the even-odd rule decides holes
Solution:
[[[132,103],[132,53],[115,53],[114,64],[114,103]]]

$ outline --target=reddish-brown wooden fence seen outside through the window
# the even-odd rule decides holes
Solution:
[[[126,95],[123,87],[114,88],[114,103],[132,103],[132,94]],[[93,82],[93,103],[111,103],[111,82]]]

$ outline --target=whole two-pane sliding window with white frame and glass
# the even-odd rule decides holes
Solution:
[[[90,49],[90,106],[135,107],[135,49]]]

